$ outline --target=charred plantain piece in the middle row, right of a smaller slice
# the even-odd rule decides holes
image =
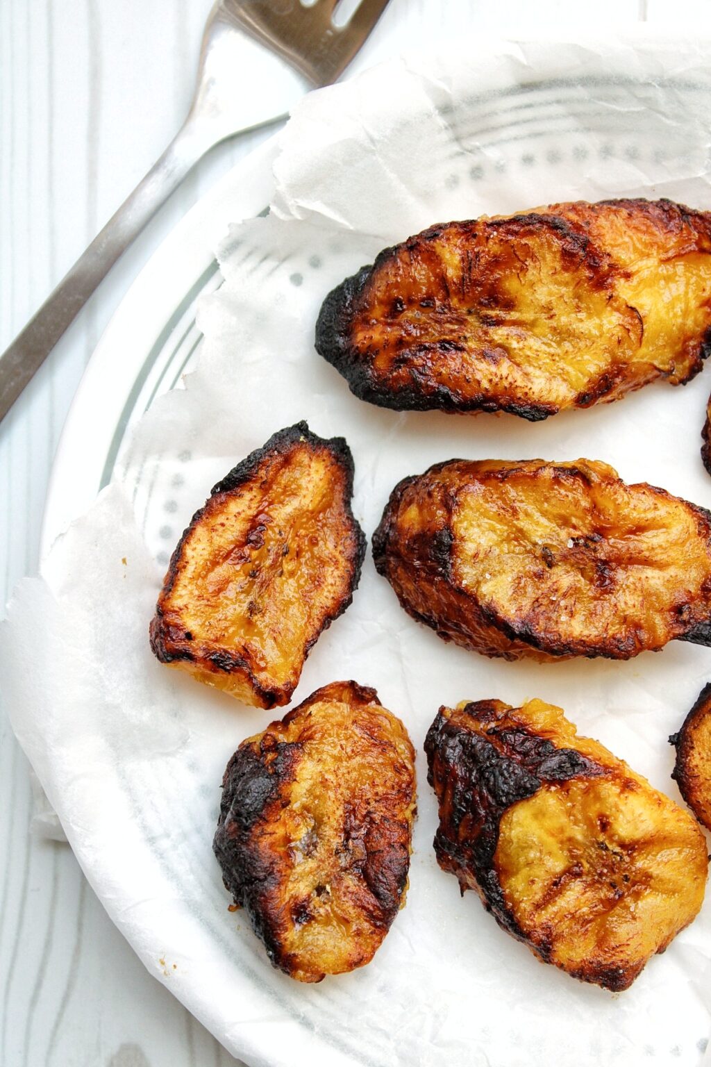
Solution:
[[[438,463],[395,487],[373,557],[409,615],[487,656],[711,639],[711,514],[605,463]]]

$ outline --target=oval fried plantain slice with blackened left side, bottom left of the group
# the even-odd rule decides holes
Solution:
[[[320,982],[370,962],[405,904],[415,800],[405,727],[355,682],[242,742],[213,848],[274,967]]]

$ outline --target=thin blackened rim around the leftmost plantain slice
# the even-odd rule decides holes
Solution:
[[[321,630],[312,639],[307,643],[304,650],[304,663],[306,658],[318,641],[324,630],[327,630],[332,622],[335,622],[348,607],[353,603],[353,593],[358,588],[360,583],[360,574],[362,571],[363,560],[366,558],[366,546],[367,538],[366,535],[358,523],[357,519],[353,514],[353,481],[355,477],[355,463],[353,461],[353,453],[349,447],[345,437],[319,437],[318,434],[312,433],[309,429],[308,423],[302,419],[300,423],[295,423],[293,426],[286,427],[284,430],[277,430],[273,433],[269,441],[265,442],[260,448],[256,448],[254,451],[249,452],[245,459],[241,460],[236,466],[229,471],[224,478],[222,478],[215,485],[212,487],[210,491],[210,496],[205,501],[201,508],[195,512],[191,519],[189,525],[182,531],[180,540],[178,541],[173,555],[171,556],[171,561],[168,563],[167,573],[163,582],[163,587],[159,594],[158,604],[156,606],[156,614],[153,615],[150,625],[149,625],[149,638],[150,648],[153,655],[160,660],[160,663],[169,664],[175,660],[184,659],[197,659],[199,656],[195,655],[190,649],[182,648],[176,649],[174,652],[168,652],[165,642],[165,632],[162,624],[163,621],[163,609],[161,606],[161,600],[166,596],[173,589],[176,575],[178,573],[178,563],[180,561],[180,554],[187,538],[189,537],[192,528],[196,523],[200,521],[206,510],[210,507],[212,500],[215,496],[220,496],[223,493],[232,493],[235,490],[239,489],[241,485],[245,484],[253,475],[259,469],[259,466],[273,456],[284,455],[289,451],[294,445],[298,444],[301,441],[305,441],[313,448],[327,448],[330,453],[337,459],[342,469],[345,472],[345,483],[343,485],[343,504],[345,515],[352,526],[353,532],[355,535],[355,552],[352,558],[352,573],[351,582],[349,584],[349,593],[341,600],[337,610],[328,616],[325,620]],[[184,633],[179,635],[180,638],[184,639]],[[225,673],[232,673],[237,670],[243,670],[247,678],[249,679],[249,684],[253,686],[257,696],[263,701],[265,708],[272,708],[279,702],[286,703],[291,697],[291,689],[286,689],[284,687],[277,689],[270,689],[262,687],[256,676],[254,675],[249,664],[242,656],[231,655],[229,652],[220,651],[215,652],[206,657],[219,671]]]

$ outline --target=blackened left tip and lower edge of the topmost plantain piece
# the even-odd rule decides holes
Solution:
[[[407,241],[403,244],[406,245]],[[437,384],[431,392],[424,394],[417,386],[393,388],[378,383],[372,377],[368,361],[354,353],[349,334],[358,300],[371,275],[385,259],[397,254],[402,246],[384,249],[375,262],[361,267],[355,274],[332,289],[321,305],[316,323],[316,350],[345,379],[354,396],[391,411],[442,411],[449,415],[501,411],[518,415],[519,418],[526,418],[530,423],[539,423],[550,415],[558,414],[560,409],[556,404],[523,404],[513,401],[505,403],[499,399],[487,399],[484,394],[465,400],[446,385]]]

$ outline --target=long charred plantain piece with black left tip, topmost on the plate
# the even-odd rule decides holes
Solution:
[[[698,373],[710,252],[711,213],[666,200],[432,226],[328,294],[316,347],[384,408],[547,418]]]

